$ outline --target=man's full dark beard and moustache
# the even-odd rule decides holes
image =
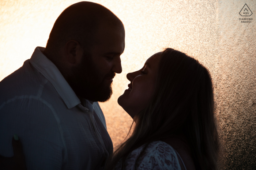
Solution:
[[[106,84],[105,78],[113,77],[115,73],[110,72],[102,76],[95,67],[90,54],[83,55],[81,64],[70,71],[71,74],[65,79],[78,97],[92,102],[106,102],[110,99],[113,93],[112,83]]]

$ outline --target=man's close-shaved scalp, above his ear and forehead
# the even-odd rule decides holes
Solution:
[[[69,40],[78,41],[84,50],[89,52],[97,41],[95,34],[100,27],[124,30],[121,20],[108,8],[87,1],[73,4],[66,8],[55,21],[45,52],[55,58],[60,48],[64,47]]]

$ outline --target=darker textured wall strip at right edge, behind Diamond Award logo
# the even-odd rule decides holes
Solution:
[[[245,3],[251,16],[239,15]],[[217,9],[214,84],[222,167],[256,169],[256,1],[218,1]],[[253,20],[241,23],[244,18]]]

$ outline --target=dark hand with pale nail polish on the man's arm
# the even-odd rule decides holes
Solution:
[[[0,156],[0,169],[2,170],[26,170],[25,156],[23,154],[22,144],[17,135],[12,138],[12,147],[14,156],[2,157]]]

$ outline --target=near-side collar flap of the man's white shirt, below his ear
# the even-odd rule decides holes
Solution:
[[[35,48],[30,58],[30,63],[52,83],[69,109],[80,104],[79,98],[60,73],[59,69],[43,54],[44,50],[44,47]]]

